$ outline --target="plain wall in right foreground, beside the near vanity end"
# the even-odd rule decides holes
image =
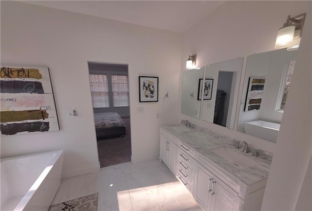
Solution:
[[[295,210],[311,207],[311,172],[307,169],[312,155],[312,1],[307,5],[307,17],[297,53],[284,115],[276,141],[275,153],[261,210]],[[311,165],[311,164],[310,164]],[[311,169],[311,167],[310,167]],[[305,175],[310,178],[304,180]],[[290,191],[291,190],[291,191]],[[303,190],[309,201],[299,199]],[[308,204],[307,204],[308,203]]]

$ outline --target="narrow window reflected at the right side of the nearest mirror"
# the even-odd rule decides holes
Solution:
[[[282,77],[281,87],[280,87],[279,94],[278,94],[276,111],[279,111],[279,112],[284,111],[284,107],[285,107],[286,99],[288,95],[288,90],[290,88],[291,81],[292,81],[294,63],[295,63],[294,60],[289,61],[285,67],[283,77]]]

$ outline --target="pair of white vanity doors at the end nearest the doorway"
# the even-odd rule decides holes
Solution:
[[[164,130],[160,133],[160,161],[164,161],[169,169],[176,174],[176,137]]]

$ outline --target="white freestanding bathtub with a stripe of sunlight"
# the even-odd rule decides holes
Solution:
[[[63,151],[1,159],[1,211],[47,211],[59,189]]]

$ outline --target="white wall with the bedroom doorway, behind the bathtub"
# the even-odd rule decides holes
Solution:
[[[180,59],[176,33],[1,1],[1,64],[50,68],[60,125],[57,132],[1,137],[1,158],[64,149],[63,177],[98,170],[87,61],[129,64],[132,160],[157,158],[159,124],[178,120]],[[138,103],[139,75],[159,77],[157,103]],[[69,115],[75,107],[78,117]]]

